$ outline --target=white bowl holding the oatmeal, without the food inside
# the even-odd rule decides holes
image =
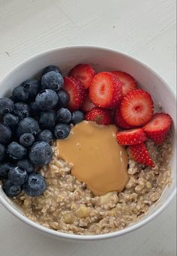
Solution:
[[[7,76],[1,80],[0,83],[0,97],[5,95],[10,95],[13,87],[20,84],[23,80],[29,77],[34,77],[40,73],[40,71],[47,65],[58,65],[62,71],[65,73],[69,71],[74,65],[78,63],[92,63],[95,66],[96,71],[113,71],[121,70],[128,74],[131,74],[139,86],[142,89],[150,92],[154,99],[154,103],[160,103],[163,106],[163,111],[169,113],[173,119],[173,128],[176,131],[176,115],[175,115],[175,92],[166,84],[166,82],[151,68],[147,65],[139,62],[137,59],[127,56],[124,53],[120,53],[115,50],[110,50],[102,47],[62,47],[55,50],[49,50],[45,53],[40,53],[31,59],[18,65],[13,69]],[[59,239],[71,240],[99,240],[108,239],[115,236],[121,236],[124,233],[136,230],[142,225],[147,224],[155,218],[172,200],[175,196],[175,150],[176,143],[175,139],[173,141],[173,157],[171,161],[172,166],[172,184],[163,191],[160,200],[151,207],[148,214],[141,218],[136,223],[131,224],[129,227],[123,230],[118,230],[113,233],[107,233],[95,236],[83,236],[83,235],[73,235],[69,233],[61,233],[55,230],[47,229],[33,221],[30,221],[23,215],[23,212],[12,203],[12,201],[5,195],[5,193],[0,188],[0,202],[9,210],[13,215],[20,218],[26,224],[31,227],[40,230],[43,233],[49,234],[51,236],[58,237]]]

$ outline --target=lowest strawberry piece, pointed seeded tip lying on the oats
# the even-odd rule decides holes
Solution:
[[[145,164],[150,167],[154,167],[154,163],[151,160],[150,155],[148,154],[148,150],[145,147],[145,143],[139,143],[136,145],[129,146],[130,154],[136,162],[140,164]]]

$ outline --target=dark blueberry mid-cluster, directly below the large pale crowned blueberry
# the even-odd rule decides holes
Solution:
[[[39,124],[43,129],[52,129],[55,126],[56,113],[54,110],[40,113]]]

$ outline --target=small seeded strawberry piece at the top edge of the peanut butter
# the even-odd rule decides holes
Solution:
[[[95,121],[98,125],[112,124],[112,116],[109,110],[104,110],[101,107],[95,107],[93,110],[86,113],[85,119],[87,121]]]

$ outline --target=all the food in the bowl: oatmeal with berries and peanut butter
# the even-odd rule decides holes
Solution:
[[[142,218],[170,183],[172,117],[155,113],[124,71],[86,63],[63,77],[49,65],[38,78],[0,98],[7,197],[64,233],[110,233]]]

